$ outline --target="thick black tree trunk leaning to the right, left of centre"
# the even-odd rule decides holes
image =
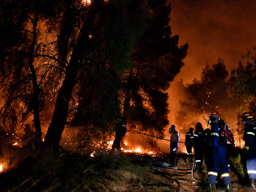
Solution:
[[[90,6],[88,16],[84,21],[79,39],[77,40],[77,45],[74,47],[70,62],[68,63],[65,79],[57,96],[51,124],[49,125],[45,136],[45,143],[47,145],[59,145],[61,141],[61,135],[68,116],[68,103],[76,84],[76,78],[79,71],[79,60],[81,60],[81,56],[86,52],[86,49],[90,49],[88,47],[88,45],[90,45],[89,35],[94,25],[95,8],[97,8],[97,3]]]

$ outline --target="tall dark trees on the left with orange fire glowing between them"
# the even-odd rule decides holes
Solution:
[[[163,136],[166,90],[188,49],[172,36],[170,4],[3,1],[1,10],[1,131],[29,124],[36,143],[58,145],[71,127],[98,140],[124,115]]]

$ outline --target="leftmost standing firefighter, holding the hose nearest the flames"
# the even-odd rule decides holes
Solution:
[[[169,133],[171,134],[170,140],[170,164],[172,169],[177,170],[176,160],[177,160],[177,150],[179,146],[179,132],[176,131],[176,126],[172,125],[169,129]]]

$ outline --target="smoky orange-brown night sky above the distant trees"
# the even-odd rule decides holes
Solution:
[[[179,35],[179,45],[189,45],[185,66],[175,80],[200,79],[205,63],[212,65],[219,57],[230,71],[247,49],[256,47],[255,0],[168,1],[172,33]]]

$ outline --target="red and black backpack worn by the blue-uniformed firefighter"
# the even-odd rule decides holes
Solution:
[[[230,127],[228,125],[221,124],[219,133],[219,145],[227,147],[227,145],[230,144],[234,145],[234,137],[230,131]]]

